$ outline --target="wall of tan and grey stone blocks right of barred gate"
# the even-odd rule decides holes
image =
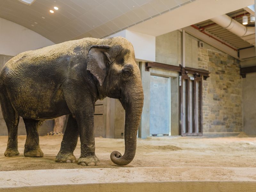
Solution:
[[[241,132],[242,79],[239,60],[214,48],[198,48],[198,68],[209,70],[203,81],[203,132]]]

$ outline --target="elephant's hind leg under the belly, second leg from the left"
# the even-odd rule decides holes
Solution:
[[[25,119],[23,118],[27,138],[25,142],[24,156],[25,157],[42,157],[44,153],[39,146],[38,129],[44,122],[44,120]]]

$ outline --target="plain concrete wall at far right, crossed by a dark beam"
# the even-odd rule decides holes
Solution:
[[[255,65],[256,65],[256,58],[241,62],[242,67],[250,67]],[[256,136],[255,79],[256,79],[256,73],[246,74],[246,78],[242,78],[244,132],[252,136]]]

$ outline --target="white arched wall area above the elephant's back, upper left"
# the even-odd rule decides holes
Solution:
[[[15,56],[21,52],[53,45],[44,36],[17,23],[0,18],[0,54]]]

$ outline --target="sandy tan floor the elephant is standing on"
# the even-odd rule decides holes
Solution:
[[[44,157],[24,157],[26,136],[18,137],[20,156],[5,157],[7,137],[0,136],[0,171],[35,169],[94,168],[76,163],[56,163],[61,136],[40,137]],[[124,153],[123,139],[95,138],[96,155],[100,160],[97,168],[116,167],[110,160],[110,153],[117,150]],[[80,155],[78,143],[74,155]],[[211,167],[256,167],[256,138],[191,138],[150,137],[138,139],[136,156],[126,167],[163,166],[211,166]],[[96,167],[95,167],[96,168]]]

